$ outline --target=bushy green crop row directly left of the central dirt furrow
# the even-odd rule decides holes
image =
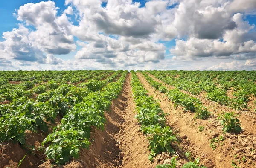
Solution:
[[[89,148],[92,127],[104,130],[104,110],[118,97],[127,73],[124,71],[118,81],[107,84],[101,91],[89,93],[63,117],[42,143],[49,145],[45,149],[48,159],[64,164],[71,157],[78,158],[80,148]]]

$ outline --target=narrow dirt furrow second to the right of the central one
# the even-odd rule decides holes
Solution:
[[[164,86],[166,86],[169,89],[175,89],[175,87],[170,86],[166,83],[164,83],[163,81],[160,81],[159,79],[155,78],[153,75],[148,74],[151,78],[153,78],[155,81],[162,83]],[[207,109],[212,112],[215,115],[218,114],[222,114],[224,112],[236,112],[237,114],[240,114],[239,116],[239,120],[241,121],[241,127],[248,131],[249,133],[253,133],[253,135],[256,135],[256,129],[254,126],[256,126],[256,114],[249,112],[249,111],[245,111],[245,110],[234,110],[230,107],[224,106],[224,105],[220,105],[214,101],[210,101],[208,99],[206,99],[206,97],[204,96],[204,94],[201,95],[192,95],[191,93],[184,91],[184,90],[180,90],[183,93],[188,94],[189,96],[193,96],[195,98],[198,98],[201,100],[202,104],[207,107]]]

